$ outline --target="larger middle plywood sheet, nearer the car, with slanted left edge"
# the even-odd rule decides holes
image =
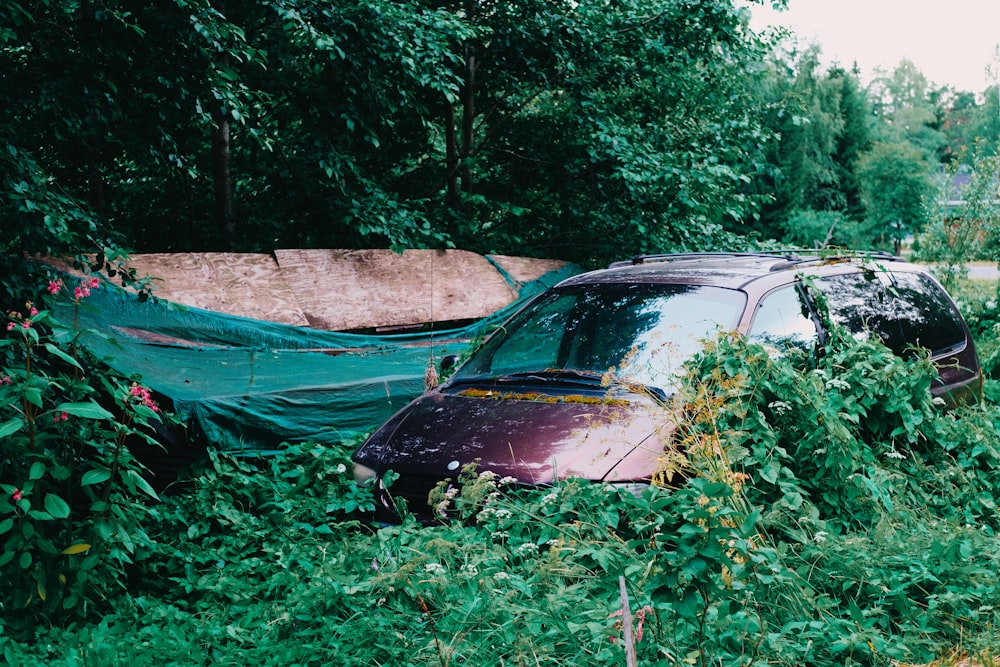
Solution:
[[[517,298],[489,260],[465,250],[276,250],[275,257],[318,329],[478,319]]]

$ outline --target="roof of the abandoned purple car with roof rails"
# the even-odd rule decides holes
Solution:
[[[742,289],[748,283],[787,283],[800,273],[824,275],[871,269],[892,262],[895,269],[921,271],[885,253],[780,250],[772,252],[687,252],[638,255],[606,269],[579,274],[561,285],[597,283],[682,283]]]

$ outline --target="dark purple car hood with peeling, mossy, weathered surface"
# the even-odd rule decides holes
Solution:
[[[671,412],[641,395],[433,391],[372,434],[354,459],[378,473],[441,478],[477,463],[526,484],[636,481],[656,470],[672,430]]]

